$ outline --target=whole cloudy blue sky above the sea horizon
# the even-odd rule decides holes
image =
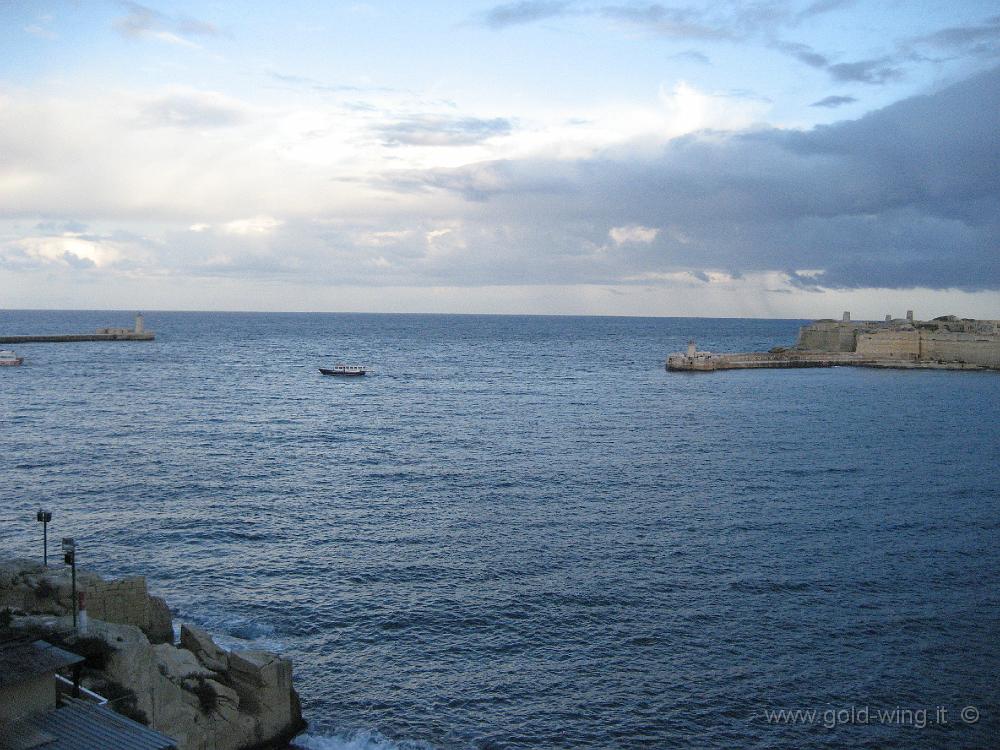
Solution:
[[[0,309],[1000,318],[995,0],[0,0]]]

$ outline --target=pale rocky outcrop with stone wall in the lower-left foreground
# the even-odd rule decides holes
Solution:
[[[86,634],[72,628],[68,569],[0,562],[8,627],[91,655],[84,687],[113,697],[113,708],[173,737],[180,750],[283,748],[305,728],[288,659],[226,651],[188,624],[175,644],[170,611],[142,576],[108,581],[78,570],[77,588],[87,592]]]

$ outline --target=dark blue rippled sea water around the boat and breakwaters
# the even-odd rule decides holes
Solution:
[[[85,566],[280,649],[305,747],[1000,746],[1000,374],[664,371],[798,321],[146,322],[0,370],[0,548],[45,505]]]

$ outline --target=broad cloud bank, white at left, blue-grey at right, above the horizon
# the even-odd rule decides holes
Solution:
[[[191,93],[10,94],[4,267],[425,288],[737,290],[759,277],[767,289],[1000,289],[1000,154],[984,116],[1000,108],[1000,69],[811,130],[753,125],[745,102],[681,86],[648,120],[619,112],[631,129],[587,148],[551,144],[599,129],[599,114],[560,119],[517,152],[507,139],[520,129],[493,150],[506,121],[453,111],[259,108],[225,129],[211,116],[135,127],[151,102]],[[401,147],[463,140],[476,148]]]

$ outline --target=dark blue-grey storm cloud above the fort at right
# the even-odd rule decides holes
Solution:
[[[1000,289],[998,114],[1000,68],[809,131],[703,133],[652,156],[646,145],[489,162],[395,186],[461,195],[472,225],[514,227],[550,248],[531,261],[543,278],[824,269],[810,283]],[[581,260],[580,248],[629,225],[663,231]]]

